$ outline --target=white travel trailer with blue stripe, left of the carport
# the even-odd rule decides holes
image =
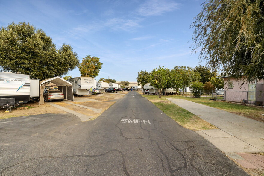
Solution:
[[[20,72],[0,72],[0,107],[11,111],[12,107],[38,98],[40,80],[30,79]]]

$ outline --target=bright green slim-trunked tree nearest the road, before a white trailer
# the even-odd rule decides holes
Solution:
[[[151,85],[156,87],[159,92],[159,98],[161,98],[161,91],[167,84],[167,73],[168,69],[163,66],[159,68],[155,68],[151,72]]]

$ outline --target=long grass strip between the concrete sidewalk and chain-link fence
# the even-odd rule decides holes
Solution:
[[[146,98],[158,98],[156,95],[142,95]],[[262,107],[252,107],[252,106],[243,106],[240,104],[234,104],[226,101],[210,101],[208,98],[192,98],[186,97],[182,95],[169,95],[169,96],[162,96],[160,99],[166,100],[166,98],[180,98],[189,100],[195,103],[204,104],[210,107],[214,107],[217,109],[225,110],[227,112],[236,113],[245,117],[249,117],[251,119],[258,120],[260,122],[264,122],[264,108]]]

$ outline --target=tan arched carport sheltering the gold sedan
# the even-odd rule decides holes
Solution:
[[[59,76],[56,76],[54,78],[45,79],[45,80],[40,81],[40,89],[41,87],[43,87],[41,85],[47,82],[56,84],[58,86],[58,89],[64,93],[64,99],[74,101],[72,84],[69,81],[66,81],[63,78],[60,78]],[[43,96],[41,96],[42,94],[43,94],[43,90],[42,91],[40,90],[40,104],[44,103]],[[41,103],[41,101],[43,101],[43,103]]]

